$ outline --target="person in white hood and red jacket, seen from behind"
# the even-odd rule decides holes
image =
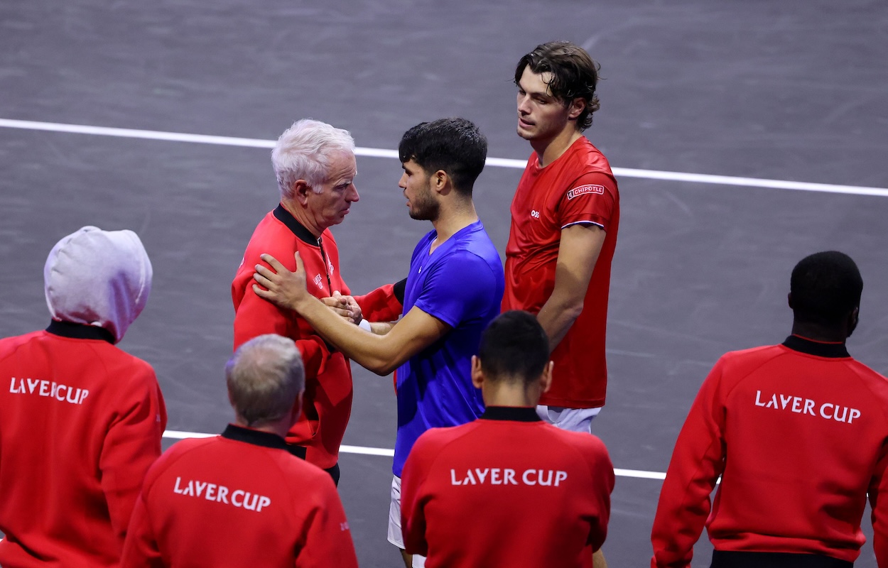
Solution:
[[[154,369],[115,346],[151,277],[136,233],[83,227],[46,259],[50,326],[0,340],[0,565],[119,564],[167,421]]]

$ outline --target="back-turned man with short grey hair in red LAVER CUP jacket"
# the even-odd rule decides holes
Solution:
[[[336,487],[290,454],[305,371],[293,341],[259,335],[226,365],[235,421],[178,442],[148,470],[123,568],[357,568]]]

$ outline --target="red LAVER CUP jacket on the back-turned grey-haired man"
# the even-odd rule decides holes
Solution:
[[[329,475],[274,434],[229,425],[172,446],[148,471],[124,568],[356,568]]]

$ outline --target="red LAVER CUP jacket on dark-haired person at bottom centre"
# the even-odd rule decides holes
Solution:
[[[488,406],[427,430],[401,481],[404,545],[440,566],[583,566],[607,536],[614,467],[591,434]]]

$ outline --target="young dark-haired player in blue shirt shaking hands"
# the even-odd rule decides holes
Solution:
[[[362,367],[388,375],[397,369],[398,436],[392,467],[389,541],[405,565],[422,566],[404,553],[400,532],[400,473],[410,448],[425,430],[471,422],[484,411],[472,385],[472,355],[481,332],[499,314],[503,264],[472,202],[472,186],[484,168],[487,140],[460,118],[423,122],[399,145],[404,173],[398,184],[410,217],[434,227],[419,241],[404,287],[403,317],[396,323],[362,323],[350,298],[339,313],[305,289],[305,270],[296,272],[263,255],[254,275],[258,296],[298,312],[314,330]],[[400,286],[396,286],[396,289]],[[336,304],[329,301],[326,304]],[[351,319],[351,321],[349,321]]]

